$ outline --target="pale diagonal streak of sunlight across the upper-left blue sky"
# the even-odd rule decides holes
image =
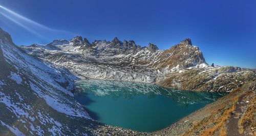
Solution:
[[[49,27],[46,27],[44,25],[41,25],[39,24],[38,22],[36,21],[33,21],[25,16],[22,16],[10,9],[7,9],[3,6],[0,5],[0,9],[3,9],[3,11],[5,11],[6,13],[4,13],[3,11],[0,10],[0,14],[2,14],[3,16],[5,16],[6,18],[8,18],[9,20],[15,22],[17,25],[19,25],[20,27],[23,27],[24,29],[28,30],[29,32],[37,35],[37,36],[40,36],[41,38],[44,38],[42,35],[40,35],[39,33],[35,32],[34,30],[32,30],[31,28],[31,25],[32,27],[36,27],[37,29],[42,29],[42,30],[47,30],[47,31],[51,31],[51,32],[62,32],[62,33],[67,33],[67,34],[70,34],[70,35],[74,35],[73,33],[71,32],[67,32],[67,31],[64,31],[64,30],[57,30],[57,29],[52,29],[52,28],[49,28]],[[18,21],[18,20],[22,20],[24,23]]]

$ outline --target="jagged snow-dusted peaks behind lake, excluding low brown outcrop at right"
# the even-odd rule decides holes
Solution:
[[[21,47],[28,54],[56,65],[67,67],[81,79],[106,79],[153,83],[165,78],[165,74],[191,66],[208,66],[198,47],[190,39],[168,49],[159,50],[152,43],[140,47],[133,40],[123,42],[95,40],[76,36],[69,42],[53,42],[42,46]],[[59,44],[56,44],[59,43]],[[189,44],[187,44],[189,43]]]

